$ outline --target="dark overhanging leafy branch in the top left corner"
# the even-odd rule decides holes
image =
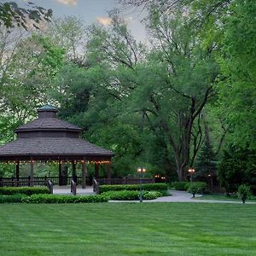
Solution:
[[[0,26],[6,26],[7,28],[22,26],[27,29],[28,20],[31,20],[32,26],[38,28],[40,21],[50,21],[51,9],[44,9],[32,2],[27,4],[29,5],[28,9],[19,7],[15,2],[0,3]]]

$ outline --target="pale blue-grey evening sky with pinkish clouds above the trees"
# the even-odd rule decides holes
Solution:
[[[13,0],[14,1],[14,0]],[[15,0],[14,2],[26,7],[27,0]],[[117,0],[32,0],[35,5],[52,9],[53,16],[61,18],[64,16],[77,16],[84,20],[85,26],[94,22],[100,22],[103,26],[108,26],[108,12],[111,9],[121,8]],[[141,20],[143,13],[135,9],[122,9],[121,14],[124,16],[131,34],[138,41],[146,40],[146,33]]]

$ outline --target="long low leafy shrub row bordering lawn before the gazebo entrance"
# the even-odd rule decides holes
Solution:
[[[21,199],[22,202],[39,204],[64,204],[64,203],[94,203],[94,202],[106,202],[108,198],[103,195],[31,195]]]

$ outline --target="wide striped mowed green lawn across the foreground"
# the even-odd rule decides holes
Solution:
[[[0,205],[0,255],[256,255],[256,205]]]

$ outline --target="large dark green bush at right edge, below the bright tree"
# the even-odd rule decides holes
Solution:
[[[218,181],[227,192],[236,192],[242,183],[256,184],[255,150],[230,146],[218,165]]]

